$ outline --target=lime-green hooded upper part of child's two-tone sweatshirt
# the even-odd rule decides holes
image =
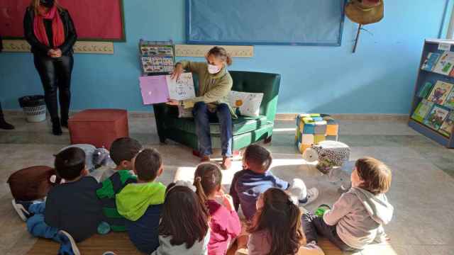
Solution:
[[[128,220],[138,220],[150,205],[164,203],[165,186],[160,182],[131,183],[116,195],[116,208]]]

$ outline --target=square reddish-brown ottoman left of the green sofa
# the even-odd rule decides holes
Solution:
[[[109,149],[119,137],[128,137],[128,112],[120,109],[89,109],[68,121],[71,144],[90,144]]]

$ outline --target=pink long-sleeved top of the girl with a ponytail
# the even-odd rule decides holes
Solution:
[[[207,206],[211,215],[208,254],[224,255],[231,239],[241,232],[240,219],[235,210],[228,210],[216,200],[208,200]]]

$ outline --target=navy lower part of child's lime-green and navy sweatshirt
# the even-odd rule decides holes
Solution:
[[[145,213],[136,221],[126,220],[129,239],[135,247],[145,253],[151,254],[159,246],[159,221],[162,205],[150,205]]]

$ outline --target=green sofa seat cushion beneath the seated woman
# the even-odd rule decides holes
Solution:
[[[233,122],[233,135],[240,135],[245,132],[251,132],[257,130],[263,125],[267,124],[267,116],[260,115],[258,117],[245,117],[238,116],[238,119],[232,119]],[[196,133],[196,125],[193,118],[177,118],[175,116],[167,116],[165,119],[165,125],[168,128],[182,130],[184,132]],[[218,123],[210,124],[210,134],[220,135],[221,128]]]

